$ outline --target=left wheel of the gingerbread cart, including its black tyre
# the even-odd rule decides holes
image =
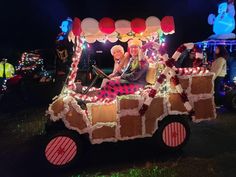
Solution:
[[[48,164],[56,168],[69,168],[81,160],[82,139],[73,131],[62,131],[48,138],[44,147],[44,157]]]

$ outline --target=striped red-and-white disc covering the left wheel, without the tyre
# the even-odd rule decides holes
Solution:
[[[52,138],[45,148],[45,157],[54,166],[63,166],[73,161],[78,154],[76,142],[69,136]]]

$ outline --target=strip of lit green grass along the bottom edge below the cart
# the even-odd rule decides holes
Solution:
[[[127,171],[114,172],[109,175],[101,173],[74,175],[72,177],[176,177],[176,172],[171,168],[160,168],[153,166],[151,168],[131,168]]]

